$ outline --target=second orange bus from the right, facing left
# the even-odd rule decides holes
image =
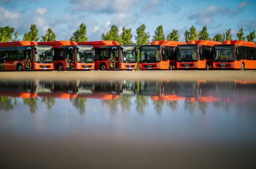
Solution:
[[[221,42],[197,40],[179,45],[177,52],[177,69],[206,69],[212,68],[214,45]]]

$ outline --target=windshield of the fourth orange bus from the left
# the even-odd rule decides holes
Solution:
[[[160,46],[141,46],[140,62],[161,62]]]

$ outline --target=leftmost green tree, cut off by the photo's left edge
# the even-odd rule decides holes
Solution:
[[[17,41],[18,32],[8,26],[0,27],[0,42]]]

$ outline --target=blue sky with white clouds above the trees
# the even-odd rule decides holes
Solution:
[[[247,0],[0,0],[0,27],[9,25],[18,31],[19,40],[31,24],[39,28],[39,37],[52,28],[57,40],[69,40],[81,23],[87,26],[88,41],[101,40],[101,34],[116,24],[136,29],[146,25],[150,40],[159,25],[167,36],[178,29],[180,41],[194,25],[200,31],[207,26],[211,37],[231,28],[233,39],[241,27],[245,36],[256,30],[256,1]]]

